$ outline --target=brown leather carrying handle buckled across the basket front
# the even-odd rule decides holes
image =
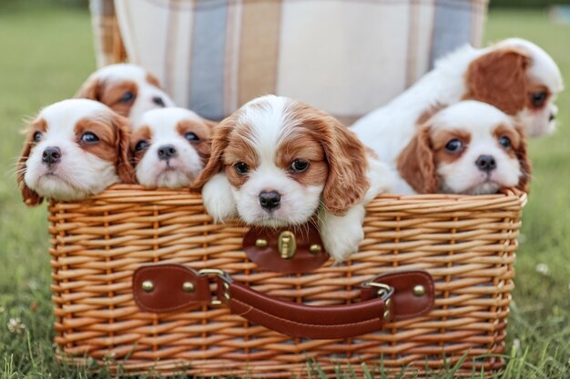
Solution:
[[[209,291],[209,274],[217,277],[215,298]],[[382,274],[362,284],[361,302],[320,307],[261,294],[234,283],[219,270],[197,273],[178,264],[150,264],[135,272],[133,294],[138,307],[146,312],[227,304],[232,313],[280,334],[336,339],[373,333],[385,322],[429,313],[433,307],[433,280],[422,271]]]

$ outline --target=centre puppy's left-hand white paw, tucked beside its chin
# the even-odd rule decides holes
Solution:
[[[202,188],[202,201],[215,222],[225,221],[236,214],[236,202],[225,174],[219,173]]]

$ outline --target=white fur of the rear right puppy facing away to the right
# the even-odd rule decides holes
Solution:
[[[423,112],[431,106],[453,105],[461,101],[467,90],[464,75],[469,64],[481,55],[505,45],[520,48],[530,55],[529,77],[546,85],[552,93],[543,110],[537,112],[524,109],[519,113],[527,135],[550,133],[555,124],[549,121],[549,117],[557,112],[554,102],[556,95],[563,89],[562,76],[544,50],[531,42],[515,38],[483,49],[465,45],[444,56],[436,62],[433,71],[424,75],[402,95],[358,120],[352,125],[352,131],[364,145],[374,150],[382,162],[395,170],[396,158],[415,135],[416,122]],[[405,185],[402,190],[406,190]]]

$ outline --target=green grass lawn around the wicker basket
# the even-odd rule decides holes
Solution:
[[[493,11],[485,41],[515,35],[543,45],[570,77],[570,25],[553,25],[536,11]],[[94,68],[85,11],[0,13],[0,379],[87,377],[86,367],[57,364],[53,356],[46,208],[21,204],[15,158],[22,118],[73,95]],[[558,105],[560,129],[530,143],[534,181],[516,264],[511,358],[501,378],[570,377],[570,94]],[[547,264],[549,272],[538,273],[537,264]],[[8,330],[15,317],[25,333]],[[436,377],[451,378],[453,371]]]

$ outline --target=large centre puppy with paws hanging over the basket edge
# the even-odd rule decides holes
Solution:
[[[337,261],[358,251],[364,205],[392,183],[351,131],[310,105],[265,95],[214,128],[195,186],[216,221],[280,227],[318,219]]]

